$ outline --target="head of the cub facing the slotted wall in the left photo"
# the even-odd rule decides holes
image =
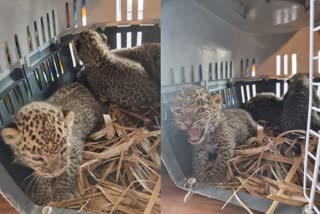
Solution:
[[[74,42],[77,56],[84,64],[97,64],[108,50],[107,37],[94,30],[81,32]]]

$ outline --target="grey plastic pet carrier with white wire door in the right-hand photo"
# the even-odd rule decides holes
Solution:
[[[241,107],[260,92],[285,94],[286,78],[309,72],[310,15],[314,50],[311,61],[320,55],[320,34],[313,33],[319,29],[316,28],[319,2],[311,2],[312,7],[310,1],[304,0],[161,2],[161,156],[178,187],[222,201],[233,193],[199,182],[190,189],[187,182],[191,177],[191,146],[183,133],[173,128],[170,97],[186,85],[195,84],[219,93],[223,108],[228,109]],[[317,12],[310,14],[310,8]],[[319,65],[314,61],[314,66],[310,67],[311,76],[318,76]],[[311,157],[307,155],[307,158]],[[319,159],[320,156],[317,162]],[[305,177],[312,180],[309,175]],[[313,192],[316,188],[320,189],[315,182]],[[263,213],[272,204],[271,200],[246,193],[238,193],[238,196],[250,209]],[[308,197],[312,201],[314,193]],[[240,205],[234,197],[231,203]],[[299,207],[284,204],[276,209],[276,213],[301,212]]]

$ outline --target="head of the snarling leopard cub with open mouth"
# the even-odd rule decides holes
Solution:
[[[191,144],[200,144],[208,130],[215,127],[220,108],[221,97],[199,86],[182,89],[171,103],[176,124],[187,132]]]

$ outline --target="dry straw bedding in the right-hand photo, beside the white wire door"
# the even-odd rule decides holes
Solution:
[[[284,132],[277,137],[265,133],[262,140],[258,141],[254,137],[245,145],[237,147],[234,158],[228,163],[228,181],[214,184],[233,189],[234,194],[223,208],[235,197],[241,206],[252,213],[237,196],[238,191],[273,200],[267,213],[274,213],[279,202],[304,207],[307,204],[303,194],[305,135],[302,130]],[[309,151],[314,156],[317,142],[317,137],[310,137]],[[311,176],[314,164],[309,158],[308,172]],[[309,192],[310,181],[307,182],[307,187]],[[320,206],[319,191],[316,191],[315,204]]]

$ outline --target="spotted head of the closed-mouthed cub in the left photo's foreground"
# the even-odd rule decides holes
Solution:
[[[15,118],[17,128],[5,128],[1,135],[15,158],[42,177],[61,175],[69,164],[73,112],[66,117],[51,105],[33,102]]]

